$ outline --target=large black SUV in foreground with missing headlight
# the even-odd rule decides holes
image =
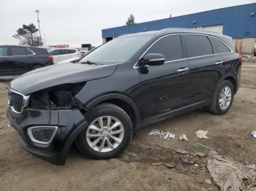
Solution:
[[[74,141],[83,155],[106,159],[153,122],[201,107],[225,114],[240,74],[228,36],[181,28],[128,34],[79,63],[13,80],[7,116],[20,144],[50,163],[64,164]]]

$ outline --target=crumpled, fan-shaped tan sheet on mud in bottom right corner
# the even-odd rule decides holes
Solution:
[[[232,158],[211,151],[206,166],[214,183],[222,191],[255,190],[255,171]]]

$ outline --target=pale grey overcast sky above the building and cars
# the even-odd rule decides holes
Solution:
[[[18,44],[12,35],[23,24],[37,26],[36,9],[47,44],[99,45],[102,28],[123,26],[130,13],[141,23],[249,3],[255,0],[0,0],[0,44]]]

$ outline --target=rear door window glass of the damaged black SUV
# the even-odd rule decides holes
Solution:
[[[187,58],[212,55],[214,53],[207,36],[192,34],[185,34],[184,36],[187,47]]]

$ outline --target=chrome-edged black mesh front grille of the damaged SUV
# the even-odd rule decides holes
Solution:
[[[29,96],[23,95],[21,93],[9,89],[8,99],[12,111],[21,114],[23,112],[23,108],[27,106]]]

